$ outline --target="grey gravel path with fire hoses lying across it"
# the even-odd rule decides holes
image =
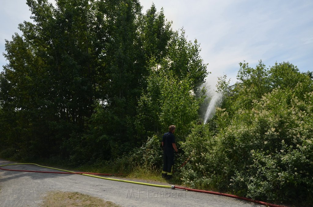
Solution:
[[[13,162],[0,159],[0,165],[11,163]],[[57,171],[35,165],[9,165],[3,168]],[[179,189],[157,188],[97,179],[77,174],[48,174],[0,170],[0,206],[40,206],[44,195],[49,191],[55,190],[89,194],[122,206],[263,206],[219,195]]]

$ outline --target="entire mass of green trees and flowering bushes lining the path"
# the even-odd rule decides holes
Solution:
[[[162,133],[175,124],[184,184],[313,202],[312,72],[239,63],[239,82],[219,78],[221,108],[197,125],[207,64],[163,10],[144,14],[137,0],[27,4],[34,23],[5,41],[1,157],[157,171]]]

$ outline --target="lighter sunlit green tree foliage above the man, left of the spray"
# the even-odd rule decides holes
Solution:
[[[191,94],[189,78],[179,80],[172,72],[155,71],[148,79],[148,92],[139,100],[137,129],[146,131],[177,127],[177,140],[184,140],[193,121],[198,119],[201,99]],[[154,125],[145,125],[145,123]],[[153,128],[152,128],[153,127]]]

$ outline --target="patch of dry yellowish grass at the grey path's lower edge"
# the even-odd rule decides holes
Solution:
[[[44,197],[44,202],[41,206],[44,207],[76,207],[76,206],[99,206],[99,207],[120,207],[110,201],[105,201],[103,199],[93,197],[86,194],[81,194],[77,192],[62,192],[62,191],[52,191],[49,192]]]

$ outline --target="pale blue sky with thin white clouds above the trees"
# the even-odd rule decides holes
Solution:
[[[300,72],[313,71],[312,0],[139,0],[142,12],[155,4],[163,8],[172,28],[185,30],[187,39],[198,40],[201,57],[208,63],[207,77],[213,87],[227,75],[236,82],[239,63],[255,67],[259,60],[296,65]],[[49,0],[53,2],[53,0]],[[30,20],[26,0],[0,0],[0,52],[18,24]],[[7,63],[0,55],[0,65]],[[2,71],[3,68],[0,68]]]

